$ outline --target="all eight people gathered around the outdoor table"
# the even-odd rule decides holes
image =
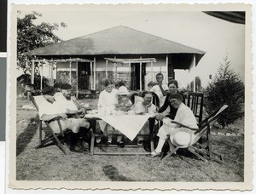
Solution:
[[[113,86],[113,81],[111,79],[106,79],[102,82],[104,90],[99,95],[99,100],[97,103],[98,112],[103,114],[109,114],[111,111],[134,111],[137,114],[150,113],[154,114],[157,120],[163,122],[160,127],[157,136],[159,137],[159,142],[154,151],[151,152],[151,157],[158,157],[161,155],[163,145],[166,140],[172,136],[172,144],[170,144],[170,149],[175,148],[175,137],[179,139],[179,131],[175,130],[179,126],[172,123],[172,120],[183,123],[190,128],[198,128],[197,122],[193,112],[188,106],[184,105],[183,94],[180,94],[177,90],[177,81],[171,80],[168,85],[163,84],[163,74],[158,73],[156,75],[157,84],[155,84],[150,90],[144,91],[141,95],[142,100],[137,100],[136,103],[132,104],[129,99],[129,92],[125,85],[120,85],[119,88]],[[154,92],[158,95],[160,100],[160,108],[152,103]],[[90,123],[81,117],[69,118],[69,114],[83,113],[85,110],[83,106],[80,106],[77,100],[73,97],[70,98],[67,91],[64,89],[62,93],[56,93],[53,87],[45,88],[43,91],[45,105],[43,108],[39,109],[39,117],[44,121],[50,121],[54,117],[60,116],[62,128],[70,129],[68,134],[68,140],[70,140],[70,151],[81,152],[84,148],[79,144],[79,133],[85,131],[87,133],[90,129]],[[67,100],[70,99],[70,100]],[[41,106],[42,107],[42,106]],[[112,144],[113,135],[119,134],[119,132],[113,128],[108,123],[100,120],[98,121],[102,133],[108,136],[108,144]],[[56,122],[51,122],[50,126],[52,128],[57,128]],[[174,133],[175,132],[175,133]],[[149,125],[145,123],[143,128],[140,130],[139,134],[148,134]],[[192,132],[191,132],[192,133]],[[143,136],[138,134],[137,145],[143,145]],[[182,140],[180,140],[182,141]],[[96,140],[97,143],[101,142],[101,139]],[[125,146],[125,140],[123,140],[122,135],[117,136],[117,145],[119,147]]]

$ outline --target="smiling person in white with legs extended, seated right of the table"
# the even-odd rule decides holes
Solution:
[[[177,108],[176,116],[174,117],[175,122],[182,123],[183,125],[188,126],[189,128],[198,128],[195,116],[193,111],[188,106],[183,104],[183,97],[181,94],[172,94],[170,95],[170,102],[174,108]],[[178,125],[172,123],[172,120],[168,117],[162,117],[159,115],[158,119],[163,120],[163,125],[160,127],[157,136],[159,136],[159,143],[155,151],[151,152],[151,157],[157,157],[161,155],[162,147],[165,144],[169,135],[172,134],[172,131],[178,128]],[[171,144],[170,150],[174,149],[174,145]]]

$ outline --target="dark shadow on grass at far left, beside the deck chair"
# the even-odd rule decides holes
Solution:
[[[32,124],[36,123],[36,124]],[[38,117],[30,118],[27,128],[17,137],[16,140],[16,156],[22,153],[26,146],[31,142],[33,136],[38,130]]]

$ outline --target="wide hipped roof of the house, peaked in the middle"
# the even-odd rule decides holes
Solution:
[[[161,37],[137,31],[126,26],[116,26],[83,37],[76,37],[27,55],[98,55],[98,54],[205,54]]]

